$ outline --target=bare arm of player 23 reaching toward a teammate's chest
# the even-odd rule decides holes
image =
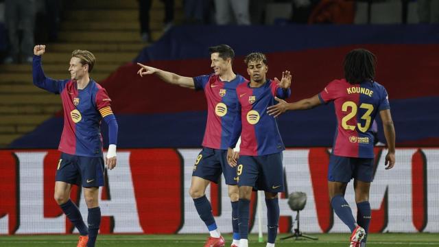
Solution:
[[[273,117],[277,117],[278,115],[285,113],[287,110],[308,110],[321,104],[318,95],[314,95],[313,97],[302,99],[293,103],[288,103],[283,99],[279,99],[278,97],[274,97],[274,99],[278,102],[278,104],[269,106],[267,108],[268,115],[272,115]]]

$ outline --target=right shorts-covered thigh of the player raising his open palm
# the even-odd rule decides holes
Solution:
[[[259,190],[278,193],[284,191],[282,152],[258,156],[261,166],[257,188]]]

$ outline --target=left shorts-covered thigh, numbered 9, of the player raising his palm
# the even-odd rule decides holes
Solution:
[[[241,155],[238,158],[238,186],[254,187],[259,176],[259,164],[255,156]]]

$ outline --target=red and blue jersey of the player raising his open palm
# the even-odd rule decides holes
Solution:
[[[257,88],[250,87],[250,82],[241,84],[236,93],[239,101],[237,111],[241,117],[235,120],[229,147],[235,147],[241,134],[241,155],[260,156],[285,150],[277,120],[268,115],[267,108],[276,104],[275,96],[286,99],[291,90],[281,89],[274,80],[267,80]]]

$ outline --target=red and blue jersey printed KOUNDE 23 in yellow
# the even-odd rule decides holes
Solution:
[[[324,104],[334,102],[337,128],[333,154],[373,158],[373,121],[380,110],[390,109],[384,86],[373,81],[350,84],[345,79],[333,80],[318,97]]]

